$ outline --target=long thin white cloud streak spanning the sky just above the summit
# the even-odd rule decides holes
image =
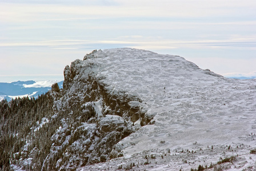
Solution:
[[[130,39],[131,40],[126,40]],[[130,47],[154,47],[164,49],[165,47],[179,48],[179,47],[221,47],[221,48],[237,48],[237,47],[248,47],[253,48],[256,45],[256,38],[234,38],[234,39],[219,39],[219,40],[166,40],[166,39],[148,39],[141,40],[142,36],[130,36],[121,37],[117,39],[122,40],[48,40],[39,42],[28,42],[28,43],[0,43],[0,47],[53,47],[55,49],[77,49],[79,45],[88,44],[125,44]],[[149,41],[151,40],[151,41]],[[137,44],[134,46],[134,44]],[[73,47],[66,47],[73,46]]]

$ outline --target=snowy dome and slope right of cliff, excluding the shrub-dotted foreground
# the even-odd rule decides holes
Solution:
[[[125,156],[195,148],[195,142],[255,144],[247,136],[255,132],[255,80],[226,79],[180,56],[131,48],[94,51],[74,66],[82,68],[78,77],[90,75],[113,93],[138,97],[140,109],[152,119],[153,125],[117,144]],[[135,125],[142,124],[135,118]]]

